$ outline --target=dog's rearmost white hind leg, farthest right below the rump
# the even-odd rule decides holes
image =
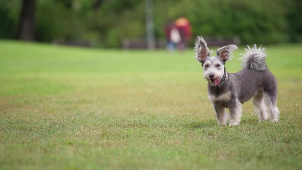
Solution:
[[[280,111],[277,107],[277,89],[272,88],[264,92],[265,103],[270,113],[270,119],[272,122],[278,121]]]

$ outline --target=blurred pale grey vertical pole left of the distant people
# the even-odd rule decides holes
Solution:
[[[154,37],[154,22],[152,14],[152,0],[146,0],[146,28],[147,28],[147,45],[148,50],[155,49],[155,37]]]

